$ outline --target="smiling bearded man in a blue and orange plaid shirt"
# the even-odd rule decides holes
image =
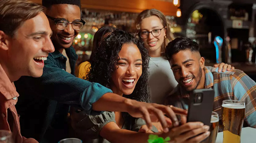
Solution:
[[[215,92],[213,111],[219,114],[220,125],[222,101],[231,99],[246,103],[244,127],[256,128],[256,83],[248,75],[240,70],[223,73],[218,72],[218,68],[204,66],[198,44],[189,38],[171,41],[166,47],[166,58],[179,83],[167,96],[166,104],[187,109],[192,90],[212,88]],[[219,131],[223,130],[221,127]]]

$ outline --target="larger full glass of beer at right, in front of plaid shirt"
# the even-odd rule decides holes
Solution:
[[[223,100],[223,143],[240,143],[244,116],[245,102],[239,100]]]

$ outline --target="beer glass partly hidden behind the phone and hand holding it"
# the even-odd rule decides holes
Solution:
[[[202,141],[201,143],[215,143],[218,130],[219,130],[219,115],[216,112],[211,112],[211,126],[209,130],[211,133],[209,137],[205,141]]]

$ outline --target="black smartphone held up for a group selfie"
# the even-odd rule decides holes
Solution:
[[[211,125],[211,112],[213,111],[214,90],[196,89],[189,97],[189,111],[187,122],[202,122]]]

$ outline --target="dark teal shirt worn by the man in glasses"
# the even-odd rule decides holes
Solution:
[[[45,61],[42,77],[21,77],[15,82],[20,95],[16,107],[21,115],[21,131],[27,138],[40,141],[48,126],[62,128],[62,121],[66,119],[69,110],[67,105],[85,111],[86,114],[100,114],[92,110],[92,104],[102,95],[112,92],[99,83],[76,78],[74,68],[78,56],[73,47],[65,50],[71,74],[65,71],[67,58],[55,50]]]

